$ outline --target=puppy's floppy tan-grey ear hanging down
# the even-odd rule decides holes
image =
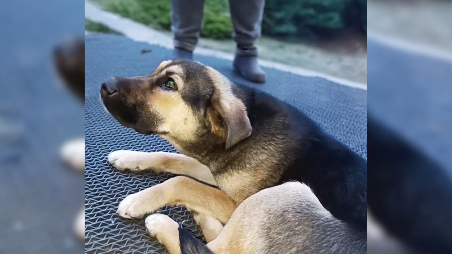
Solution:
[[[215,85],[211,103],[215,111],[221,115],[227,125],[226,150],[251,135],[252,127],[245,104],[235,97],[227,84]]]

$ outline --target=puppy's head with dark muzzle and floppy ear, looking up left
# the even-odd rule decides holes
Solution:
[[[213,134],[226,149],[251,134],[231,82],[197,62],[164,61],[151,75],[112,78],[100,94],[114,118],[144,134],[189,143]]]

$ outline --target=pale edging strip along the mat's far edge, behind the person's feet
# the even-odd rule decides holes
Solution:
[[[174,48],[173,39],[168,37],[167,35],[155,31],[154,29],[141,23],[135,22],[131,19],[123,18],[117,14],[104,11],[86,0],[85,0],[85,18],[103,24],[112,30],[122,33],[124,36],[134,41],[147,42],[149,44],[154,44],[169,49]],[[230,61],[234,59],[234,55],[231,53],[221,52],[209,48],[197,47],[194,52],[199,55],[214,56],[220,59],[226,59]],[[292,74],[308,77],[319,77],[325,80],[330,80],[339,85],[345,85],[348,87],[367,90],[367,84],[346,80],[343,78],[335,77],[317,71],[311,71],[295,66],[288,66],[282,63],[263,59],[259,59],[259,64],[261,66],[273,68],[279,71],[285,71]]]

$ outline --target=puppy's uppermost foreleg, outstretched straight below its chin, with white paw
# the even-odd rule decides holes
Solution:
[[[108,161],[118,170],[141,171],[152,169],[157,173],[185,174],[217,186],[217,182],[206,165],[182,154],[119,150],[110,153]]]

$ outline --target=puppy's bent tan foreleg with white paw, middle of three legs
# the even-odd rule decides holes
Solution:
[[[191,178],[177,176],[127,196],[119,204],[117,213],[125,218],[141,218],[165,205],[184,205],[190,210],[213,216],[222,223],[229,220],[237,206],[225,192]]]

